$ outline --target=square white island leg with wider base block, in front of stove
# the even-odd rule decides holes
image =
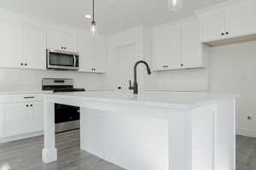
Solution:
[[[44,163],[57,160],[55,149],[55,104],[44,99],[44,149],[42,151]]]

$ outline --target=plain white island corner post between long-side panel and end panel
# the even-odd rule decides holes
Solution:
[[[192,118],[189,110],[169,111],[169,170],[190,170]]]

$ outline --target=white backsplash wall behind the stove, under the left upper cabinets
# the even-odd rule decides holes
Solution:
[[[42,78],[73,78],[76,88],[87,90],[109,89],[104,74],[81,73],[75,71],[35,71],[20,69],[0,69],[0,91],[4,90],[40,90]]]

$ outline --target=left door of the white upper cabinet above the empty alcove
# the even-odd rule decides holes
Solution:
[[[201,42],[212,42],[224,38],[225,14],[207,14],[200,20]]]

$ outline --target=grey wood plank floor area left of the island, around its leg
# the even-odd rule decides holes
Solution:
[[[10,170],[124,170],[80,150],[79,141],[79,130],[56,134],[58,161],[49,164],[42,162],[42,136],[0,144],[0,169],[11,167]]]

